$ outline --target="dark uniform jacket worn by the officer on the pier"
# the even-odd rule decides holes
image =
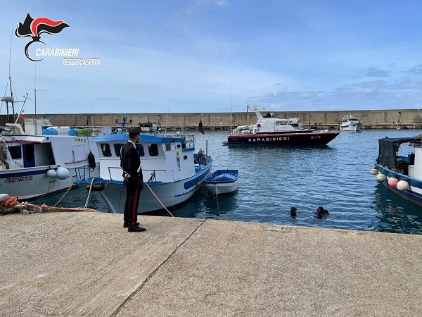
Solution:
[[[127,142],[123,145],[122,150],[120,151],[120,166],[122,169],[129,173],[131,176],[129,182],[126,182],[126,185],[140,185],[143,184],[141,159],[139,159],[139,153],[136,151],[134,144],[132,142]],[[139,170],[139,171],[138,171]],[[140,183],[140,184],[139,184]]]

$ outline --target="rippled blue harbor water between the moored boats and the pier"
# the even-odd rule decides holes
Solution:
[[[340,132],[326,147],[226,147],[228,131],[205,131],[198,135],[196,149],[208,147],[213,170],[239,170],[238,190],[215,199],[202,190],[184,204],[175,206],[174,216],[422,234],[422,209],[397,197],[371,175],[378,156],[378,139],[409,137],[422,130],[363,130]],[[34,201],[50,206],[63,192]],[[58,206],[84,206],[88,192],[72,189]],[[142,201],[140,202],[142,204]],[[106,206],[90,198],[90,208],[107,212]],[[290,206],[298,209],[290,216]],[[329,216],[316,218],[323,206]],[[166,211],[154,213],[168,216]]]

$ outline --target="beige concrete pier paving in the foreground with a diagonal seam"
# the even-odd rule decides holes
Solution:
[[[0,316],[421,316],[422,236],[112,213],[0,216]]]

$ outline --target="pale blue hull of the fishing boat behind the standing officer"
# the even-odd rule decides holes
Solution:
[[[138,213],[147,213],[163,209],[162,204],[168,208],[181,204],[189,199],[203,183],[205,178],[210,174],[211,163],[201,169],[195,175],[191,175],[184,180],[174,182],[146,182],[139,196]],[[89,188],[91,178],[86,180],[78,180],[78,185]],[[92,192],[96,197],[104,201],[108,210],[113,213],[124,212],[124,201],[126,200],[126,187],[120,180],[103,180],[102,178],[94,179],[94,184],[101,183],[104,185],[101,191]],[[158,200],[160,199],[160,200]],[[160,203],[161,201],[161,203]]]

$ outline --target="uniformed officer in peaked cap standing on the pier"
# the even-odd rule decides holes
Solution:
[[[127,173],[124,177],[124,185],[126,186],[126,201],[124,203],[124,223],[123,227],[129,232],[145,231],[145,228],[139,227],[138,205],[139,194],[143,188],[143,177],[141,168],[141,159],[136,150],[136,143],[139,143],[140,127],[129,129],[129,140],[120,149],[120,166]],[[123,174],[125,174],[123,172]]]

